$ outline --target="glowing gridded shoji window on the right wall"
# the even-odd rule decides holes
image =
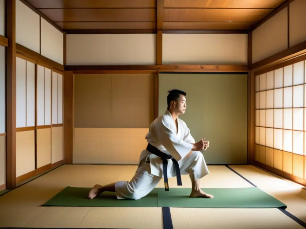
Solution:
[[[306,178],[306,63],[256,75],[255,160]]]

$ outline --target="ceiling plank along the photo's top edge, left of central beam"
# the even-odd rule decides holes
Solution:
[[[27,0],[36,9],[56,8],[154,8],[155,0]]]

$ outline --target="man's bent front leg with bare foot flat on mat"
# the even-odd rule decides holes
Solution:
[[[192,151],[189,157],[183,158],[179,163],[182,173],[188,173],[191,179],[192,191],[189,197],[213,198],[200,188],[200,179],[209,174],[203,154],[200,151]]]

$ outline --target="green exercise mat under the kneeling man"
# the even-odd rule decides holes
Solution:
[[[182,208],[286,208],[287,206],[257,187],[205,188],[214,198],[189,198],[191,188],[155,188],[139,200],[118,200],[105,192],[88,199],[90,188],[66,187],[42,206],[69,207],[182,207]]]

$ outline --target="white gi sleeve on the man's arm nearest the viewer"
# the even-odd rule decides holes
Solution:
[[[177,161],[184,158],[192,150],[193,144],[181,140],[177,134],[173,132],[171,124],[164,119],[157,127],[156,133],[160,144],[162,144]]]

